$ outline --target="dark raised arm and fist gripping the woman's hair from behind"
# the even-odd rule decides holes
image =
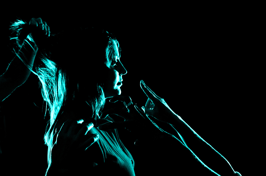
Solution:
[[[40,28],[40,33],[49,36],[50,30],[49,26],[46,25],[45,21],[41,18],[30,20],[31,26],[36,26]],[[48,32],[47,32],[48,31]],[[26,40],[26,39],[25,39]],[[30,41],[28,41],[30,42]],[[26,42],[22,42],[26,43]],[[17,56],[11,61],[7,67],[6,72],[0,76],[0,101],[7,98],[17,87],[21,86],[30,76],[30,69],[27,68],[25,64],[20,60],[21,57],[29,62],[29,66],[32,69],[35,56],[37,54],[38,48],[33,42],[30,42],[32,47],[28,44],[24,44]]]

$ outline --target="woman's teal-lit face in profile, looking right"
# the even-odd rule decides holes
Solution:
[[[116,43],[114,43],[114,45],[116,50],[116,59],[114,62],[111,63],[110,70],[107,75],[107,81],[104,83],[103,92],[105,98],[121,94],[120,87],[122,86],[122,75],[127,73],[125,67],[120,61],[118,47]]]

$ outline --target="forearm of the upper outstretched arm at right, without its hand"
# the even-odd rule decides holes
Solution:
[[[203,140],[181,117],[176,116],[172,126],[179,133],[184,144],[192,150],[200,160],[220,175],[233,175],[230,163],[205,140]]]

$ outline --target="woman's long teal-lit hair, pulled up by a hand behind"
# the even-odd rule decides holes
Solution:
[[[48,106],[48,120],[45,144],[48,146],[48,165],[51,164],[53,128],[60,112],[66,104],[84,99],[90,105],[91,118],[103,108],[105,97],[103,83],[111,62],[115,60],[115,44],[121,49],[117,39],[107,31],[89,28],[76,28],[51,34],[50,37],[38,35],[38,28],[21,19],[15,21],[10,29],[16,32],[19,49],[25,44],[36,44],[38,52],[31,69],[20,51],[14,53],[39,78],[42,96]]]

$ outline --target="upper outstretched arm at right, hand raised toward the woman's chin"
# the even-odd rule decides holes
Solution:
[[[182,141],[210,169],[219,175],[238,175],[230,163],[205,140],[203,140],[180,116],[176,115],[166,102],[148,88],[143,81],[141,88],[154,105],[152,108],[142,107],[144,112],[155,119],[171,124]]]

